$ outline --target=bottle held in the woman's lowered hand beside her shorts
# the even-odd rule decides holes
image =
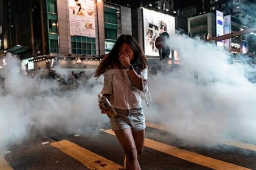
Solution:
[[[98,95],[99,99],[99,107],[103,110],[106,111],[107,115],[109,118],[113,118],[116,116],[116,111],[115,109],[111,106],[110,102],[105,96],[102,96],[101,94]]]

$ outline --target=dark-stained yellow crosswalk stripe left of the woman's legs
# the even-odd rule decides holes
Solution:
[[[118,165],[102,156],[94,154],[90,150],[82,148],[68,140],[53,142],[51,143],[51,146],[78,160],[89,169],[124,170],[124,167],[121,165]]]

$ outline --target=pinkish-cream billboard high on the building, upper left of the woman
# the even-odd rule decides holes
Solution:
[[[71,36],[95,38],[95,17],[93,0],[68,0]]]

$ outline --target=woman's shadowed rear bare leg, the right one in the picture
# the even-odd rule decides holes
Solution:
[[[145,129],[139,132],[132,132],[132,135],[137,149],[137,154],[140,155],[144,149]]]

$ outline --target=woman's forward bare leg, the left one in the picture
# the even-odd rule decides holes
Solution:
[[[127,170],[140,170],[140,165],[137,159],[137,149],[133,139],[133,134],[130,128],[114,131],[117,139],[121,143],[125,156]]]

